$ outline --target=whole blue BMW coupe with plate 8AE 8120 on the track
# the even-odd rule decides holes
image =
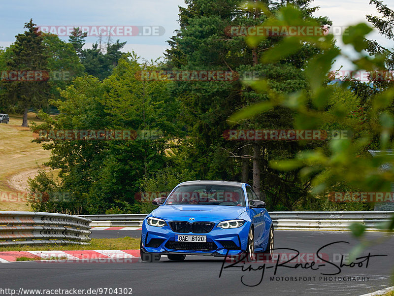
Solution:
[[[176,186],[142,223],[141,260],[186,255],[272,256],[274,233],[265,203],[246,183],[188,181]]]

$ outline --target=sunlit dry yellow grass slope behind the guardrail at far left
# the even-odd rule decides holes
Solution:
[[[29,121],[42,122],[34,113]],[[9,198],[9,193],[27,191],[27,179],[33,177],[38,165],[49,160],[50,151],[32,143],[30,128],[22,128],[22,116],[10,116],[9,124],[0,124],[0,210],[31,211],[23,200]]]

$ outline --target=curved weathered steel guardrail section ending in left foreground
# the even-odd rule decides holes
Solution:
[[[87,245],[90,219],[66,214],[0,211],[0,246],[26,244]]]

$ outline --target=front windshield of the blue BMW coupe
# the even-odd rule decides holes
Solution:
[[[175,189],[165,204],[245,206],[245,197],[240,187],[209,184],[189,185],[179,186]]]

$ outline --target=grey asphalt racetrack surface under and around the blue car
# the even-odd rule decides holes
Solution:
[[[91,237],[138,237],[139,235],[139,230],[101,230],[93,231]],[[286,264],[293,267],[290,268],[279,265],[274,275],[276,261],[265,263],[265,267],[263,267],[264,263],[238,263],[237,265],[244,266],[247,270],[242,271],[240,267],[224,268],[219,278],[221,268],[230,266],[231,263],[223,263],[221,258],[206,256],[187,256],[184,262],[172,262],[163,256],[159,263],[140,261],[135,263],[121,261],[119,263],[97,261],[0,263],[1,288],[15,289],[17,292],[20,288],[85,289],[83,295],[88,295],[86,292],[89,288],[129,288],[123,292],[127,292],[126,295],[131,295],[129,294],[131,292],[134,296],[358,296],[393,285],[390,277],[394,267],[394,234],[368,232],[365,239],[369,242],[380,239],[382,242],[367,247],[359,257],[368,256],[369,253],[371,256],[387,256],[354,260],[360,264],[354,267],[342,266],[337,275],[323,275],[322,273],[336,273],[340,267],[316,260],[314,254],[319,248],[334,243],[322,249],[320,254],[327,254],[326,256],[339,266],[342,254],[346,256],[358,244],[358,240],[352,237],[350,232],[276,230],[275,253],[285,256],[288,253],[295,253],[286,248],[298,250],[301,253],[298,258],[303,258],[299,262],[303,266],[294,268],[295,264]],[[307,254],[303,255],[303,253]],[[324,255],[322,256],[326,259]],[[308,261],[308,265],[303,260]],[[312,267],[317,270],[302,268],[310,266],[312,261],[316,262]],[[258,270],[248,269],[248,266]],[[263,270],[263,279],[259,284]],[[349,277],[352,281],[349,281]],[[299,280],[295,281],[296,278]],[[249,287],[242,282],[256,286]],[[107,290],[106,294],[98,293],[98,295],[111,295],[109,292]],[[24,295],[37,295],[37,293]]]

